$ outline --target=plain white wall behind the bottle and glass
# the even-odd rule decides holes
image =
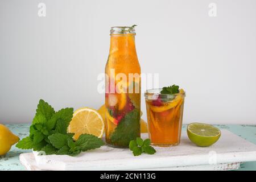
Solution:
[[[100,107],[110,27],[138,24],[142,72],[186,90],[184,123],[256,124],[255,9],[254,0],[0,0],[0,122],[31,122],[40,98]]]

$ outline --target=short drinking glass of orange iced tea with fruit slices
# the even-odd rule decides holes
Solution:
[[[185,92],[161,94],[162,89],[150,89],[146,99],[148,137],[156,146],[175,146],[180,143]]]

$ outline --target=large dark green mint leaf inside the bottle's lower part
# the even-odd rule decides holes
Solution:
[[[134,109],[126,114],[110,135],[111,142],[118,146],[129,146],[130,140],[136,139],[141,133],[140,118],[141,115],[138,109]]]

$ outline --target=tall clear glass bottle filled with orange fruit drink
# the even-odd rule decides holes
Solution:
[[[106,143],[129,147],[141,135],[141,67],[135,48],[135,26],[112,27],[105,67]]]

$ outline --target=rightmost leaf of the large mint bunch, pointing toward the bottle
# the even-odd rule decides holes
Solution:
[[[81,148],[81,151],[91,150],[103,146],[105,143],[102,139],[90,135],[90,134],[81,134],[79,139],[75,142],[76,146]]]

